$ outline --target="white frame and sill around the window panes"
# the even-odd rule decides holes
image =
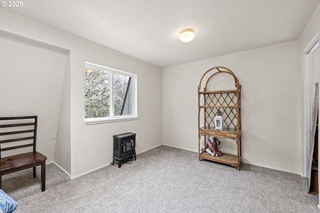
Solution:
[[[92,117],[92,118],[84,118],[86,124],[95,124],[95,123],[105,123],[105,122],[115,122],[115,121],[123,121],[123,120],[135,120],[137,119],[137,76],[136,74],[113,69],[110,67],[98,65],[95,63],[85,61],[86,66],[95,66],[100,69],[104,69],[110,72],[110,106],[109,106],[109,117]],[[84,69],[85,69],[84,68]],[[132,114],[129,115],[113,115],[113,73],[122,74],[131,77],[131,86],[132,86]]]

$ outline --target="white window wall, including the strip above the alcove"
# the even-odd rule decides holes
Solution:
[[[70,169],[68,163],[62,164],[59,162],[61,159],[54,159],[54,161],[59,162],[59,166],[70,172],[71,178],[108,165],[112,161],[112,135],[114,134],[128,131],[136,133],[136,152],[161,144],[160,68],[2,10],[0,10],[0,29],[34,39],[37,42],[70,50],[68,57],[70,60],[70,81],[63,82],[63,89],[66,88],[67,90],[67,87],[70,87],[70,102],[63,99],[67,96],[67,93],[63,90],[60,108],[60,113],[61,110],[66,110],[63,111],[66,115],[68,114],[67,110],[70,110],[70,120],[69,122],[67,120],[58,121],[62,125],[61,128],[70,128],[69,135],[67,132],[62,133],[70,137],[70,141],[68,141],[70,142]],[[9,46],[6,47],[6,49],[9,48]],[[25,50],[23,51],[27,53]],[[137,74],[137,120],[85,124],[85,61]],[[63,70],[64,68],[65,64],[62,66]],[[13,79],[8,78],[7,80],[12,81]],[[61,91],[62,84],[55,89]],[[56,119],[58,117],[59,115],[56,115]],[[59,138],[61,136],[57,135],[57,139]],[[59,149],[63,149],[63,144],[67,140],[56,142],[59,143]],[[68,147],[66,148],[68,149]],[[61,154],[55,155],[55,157],[59,156]]]

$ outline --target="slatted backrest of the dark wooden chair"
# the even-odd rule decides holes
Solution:
[[[37,116],[0,117],[0,157],[2,151],[33,146],[35,151]],[[32,143],[26,143],[32,140]],[[24,142],[21,142],[24,141]],[[1,144],[6,143],[5,147]]]

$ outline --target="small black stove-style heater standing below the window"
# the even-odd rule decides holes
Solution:
[[[121,167],[121,162],[135,157],[135,133],[127,132],[123,134],[113,135],[113,159],[118,161],[118,167]]]

